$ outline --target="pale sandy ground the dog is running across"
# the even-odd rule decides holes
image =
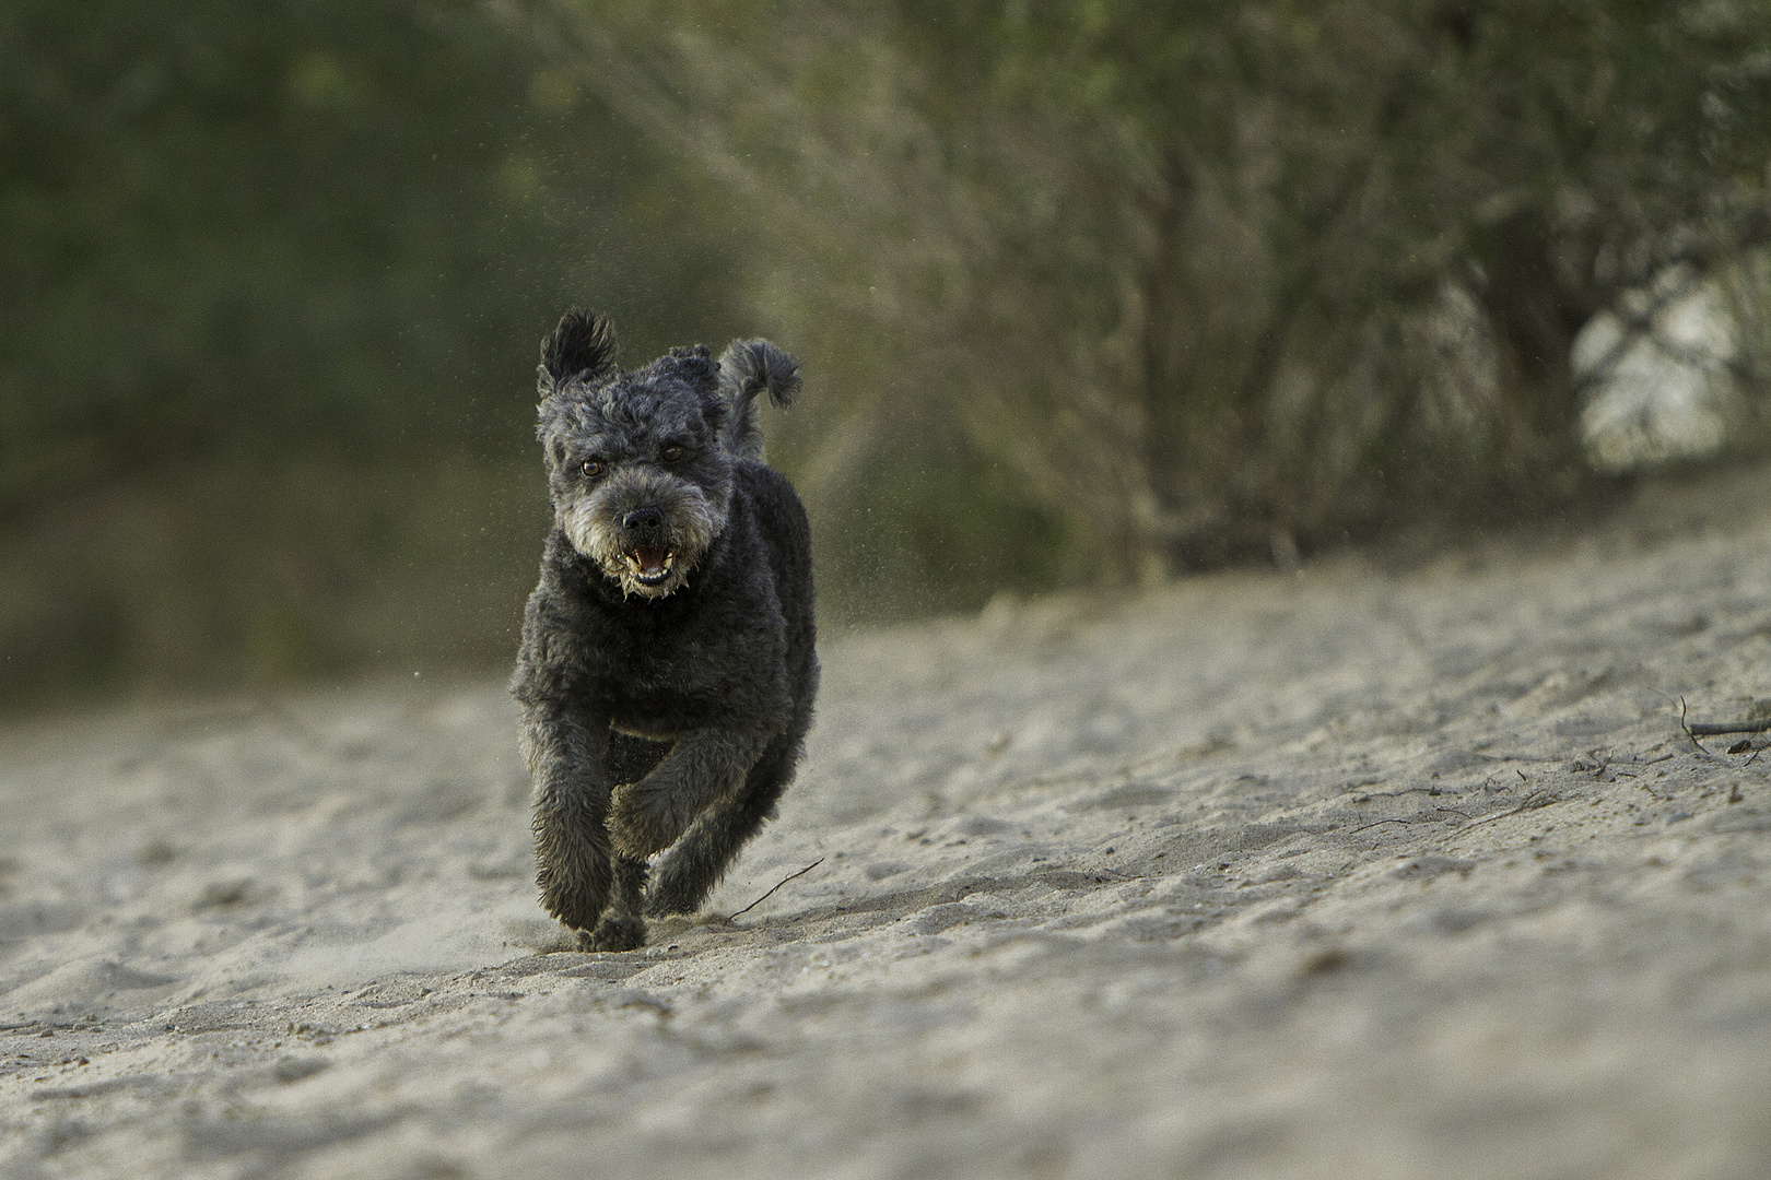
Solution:
[[[496,683],[14,722],[0,1176],[1771,1176],[1771,755],[1677,704],[1771,697],[1767,541],[1760,471],[834,637],[620,955]]]

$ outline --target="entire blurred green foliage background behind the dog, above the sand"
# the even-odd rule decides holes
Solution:
[[[1603,504],[1767,161],[1759,0],[16,0],[0,699],[501,665],[572,303],[802,356],[832,619]]]

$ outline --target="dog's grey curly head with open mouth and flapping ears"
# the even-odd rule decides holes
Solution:
[[[731,506],[719,363],[696,345],[622,372],[609,322],[572,310],[542,341],[538,382],[547,490],[572,547],[627,594],[680,589]]]

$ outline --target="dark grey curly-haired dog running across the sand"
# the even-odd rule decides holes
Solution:
[[[809,531],[756,425],[760,393],[797,387],[763,340],[622,372],[607,320],[572,310],[542,341],[554,525],[510,692],[542,906],[588,950],[645,945],[641,911],[698,909],[804,748]]]

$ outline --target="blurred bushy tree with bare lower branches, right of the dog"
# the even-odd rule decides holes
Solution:
[[[1759,0],[499,9],[767,202],[845,465],[963,423],[1109,579],[1567,502],[1574,333],[1767,239]]]

